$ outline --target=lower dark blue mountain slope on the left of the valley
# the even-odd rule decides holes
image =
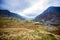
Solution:
[[[14,17],[24,20],[22,16],[9,12],[8,10],[0,10],[0,17]]]

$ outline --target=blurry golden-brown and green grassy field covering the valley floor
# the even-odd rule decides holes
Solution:
[[[48,31],[41,22],[15,18],[0,20],[0,40],[59,40],[60,30],[54,31]]]

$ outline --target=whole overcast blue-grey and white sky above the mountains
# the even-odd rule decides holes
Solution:
[[[6,9],[27,19],[35,18],[50,6],[60,6],[60,0],[0,0],[0,9]]]

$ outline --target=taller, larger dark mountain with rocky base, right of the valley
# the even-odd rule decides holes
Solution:
[[[60,25],[60,7],[49,7],[42,14],[38,15],[34,21]]]

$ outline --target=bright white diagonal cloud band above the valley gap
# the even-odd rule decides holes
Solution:
[[[25,10],[20,12],[20,14],[24,14],[26,16],[34,15],[34,16],[28,16],[28,17],[35,17],[38,14],[40,14],[41,12],[43,12],[43,10],[45,10],[45,8],[47,8],[47,6],[48,6],[47,3],[48,3],[48,1],[46,1],[46,0],[38,0],[32,6],[30,6],[29,8],[26,8]]]

